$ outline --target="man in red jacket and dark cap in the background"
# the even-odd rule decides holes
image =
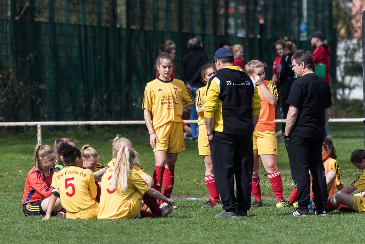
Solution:
[[[324,37],[323,33],[320,31],[315,31],[309,39],[311,40],[312,48],[315,48],[312,53],[314,67],[316,67],[317,64],[326,65],[326,78],[324,79],[327,81],[328,85],[330,85],[330,56],[332,54],[330,46],[323,43]]]

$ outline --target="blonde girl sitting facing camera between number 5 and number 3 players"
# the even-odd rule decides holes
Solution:
[[[97,151],[95,149],[93,149],[89,145],[84,145],[82,147],[81,157],[82,157],[82,168],[93,172],[95,184],[97,187],[96,200],[100,200],[101,176],[103,176],[103,174],[108,169],[108,167],[104,167],[100,170],[97,170],[96,166],[97,166],[97,163],[99,162],[99,154],[97,153]]]

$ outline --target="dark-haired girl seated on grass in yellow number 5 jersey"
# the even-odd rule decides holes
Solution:
[[[61,199],[61,204],[66,209],[66,218],[96,218],[99,204],[95,202],[95,179],[90,170],[82,169],[81,151],[63,143],[60,145],[59,155],[63,157],[65,168],[53,176],[53,190],[46,216],[42,220],[50,218],[49,210],[53,208],[57,198]]]

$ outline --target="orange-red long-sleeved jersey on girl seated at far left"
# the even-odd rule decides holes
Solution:
[[[52,192],[52,176],[53,173],[49,170],[49,175],[45,175],[34,166],[28,173],[24,185],[23,204],[29,202],[42,201],[49,198]]]

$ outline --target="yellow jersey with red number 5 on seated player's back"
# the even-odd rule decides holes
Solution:
[[[69,213],[80,213],[95,202],[97,188],[90,170],[68,166],[53,175],[52,186]]]

